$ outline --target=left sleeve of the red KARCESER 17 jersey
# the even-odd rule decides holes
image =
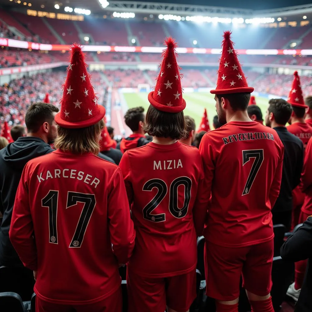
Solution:
[[[24,266],[37,270],[37,247],[30,213],[26,165],[17,188],[9,231],[10,240]]]

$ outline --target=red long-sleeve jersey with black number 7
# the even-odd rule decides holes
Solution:
[[[212,195],[206,240],[225,247],[271,240],[284,156],[276,131],[255,121],[231,121],[205,134],[199,151]]]

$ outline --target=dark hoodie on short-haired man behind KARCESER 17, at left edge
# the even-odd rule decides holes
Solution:
[[[35,137],[20,137],[0,150],[0,266],[23,266],[9,239],[15,194],[26,163],[54,149]]]

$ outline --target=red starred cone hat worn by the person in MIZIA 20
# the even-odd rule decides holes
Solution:
[[[158,110],[178,113],[184,110],[186,103],[182,98],[180,67],[177,63],[177,43],[173,38],[165,40],[167,49],[163,51],[163,61],[157,78],[155,90],[149,93],[149,103]]]

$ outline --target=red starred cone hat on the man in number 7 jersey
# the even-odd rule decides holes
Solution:
[[[232,32],[223,34],[222,56],[220,59],[216,90],[212,94],[251,93],[254,88],[249,87],[238,61],[236,51],[231,41]]]

